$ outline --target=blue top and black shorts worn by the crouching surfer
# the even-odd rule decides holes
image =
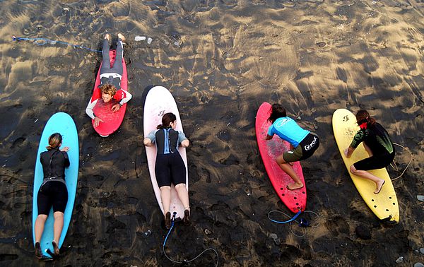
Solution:
[[[310,158],[319,147],[319,137],[317,134],[302,129],[302,127],[290,117],[280,117],[269,126],[268,135],[273,136],[274,134],[288,141],[294,148],[293,150],[288,150],[283,153],[285,162],[306,160]]]

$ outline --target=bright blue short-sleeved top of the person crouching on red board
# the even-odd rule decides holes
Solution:
[[[290,117],[281,117],[276,119],[274,123],[269,126],[268,135],[273,136],[276,134],[281,139],[291,143],[293,148],[297,148],[299,143],[310,133],[302,129],[296,121]]]

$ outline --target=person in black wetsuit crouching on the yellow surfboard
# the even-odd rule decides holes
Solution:
[[[351,145],[344,150],[346,158],[351,158],[355,148],[358,148],[361,142],[364,142],[364,148],[367,150],[370,158],[365,158],[351,165],[351,172],[359,177],[370,179],[375,182],[374,194],[379,194],[384,185],[384,179],[381,179],[367,170],[382,169],[387,167],[394,160],[394,146],[390,140],[389,133],[383,128],[366,110],[360,110],[356,113],[356,121],[360,130],[353,137]]]

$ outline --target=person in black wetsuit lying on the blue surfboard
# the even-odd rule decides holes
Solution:
[[[64,227],[64,211],[68,203],[68,190],[65,182],[65,167],[69,167],[69,147],[60,149],[62,137],[60,133],[53,133],[49,137],[47,151],[40,154],[40,162],[44,179],[38,190],[37,208],[38,216],[35,220],[35,256],[41,259],[42,252],[40,239],[44,231],[47,216],[53,206],[54,239],[52,245],[54,254],[59,255],[59,239]]]

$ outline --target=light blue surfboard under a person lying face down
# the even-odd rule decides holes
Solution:
[[[76,194],[76,184],[78,182],[78,164],[79,164],[79,146],[78,146],[78,133],[76,131],[75,123],[69,114],[64,112],[58,112],[50,117],[49,121],[45,126],[45,129],[42,131],[42,136],[40,139],[40,146],[38,147],[37,152],[37,161],[35,162],[35,172],[34,172],[34,194],[33,194],[33,240],[35,246],[35,220],[38,215],[37,208],[37,195],[38,190],[42,184],[43,172],[42,165],[40,162],[40,153],[47,151],[46,146],[49,145],[49,136],[52,133],[60,133],[62,136],[62,146],[68,146],[70,149],[68,151],[69,162],[71,165],[65,170],[65,180],[66,187],[68,189],[68,203],[66,204],[66,209],[64,213],[64,228],[61,232],[59,239],[59,248],[64,243],[66,232],[68,231],[69,223],[71,222],[73,203],[75,202]],[[42,233],[40,245],[43,256],[47,258],[52,258],[47,254],[46,250],[53,250],[52,240],[53,240],[53,208],[50,210],[49,216],[47,218],[44,232]]]

